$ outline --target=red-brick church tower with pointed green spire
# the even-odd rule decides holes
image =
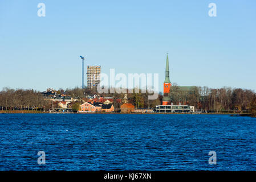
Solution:
[[[165,67],[165,80],[164,80],[164,97],[162,98],[162,105],[170,105],[170,86],[172,83],[170,82],[170,72],[169,72],[169,59],[168,53],[166,55],[166,67]]]

